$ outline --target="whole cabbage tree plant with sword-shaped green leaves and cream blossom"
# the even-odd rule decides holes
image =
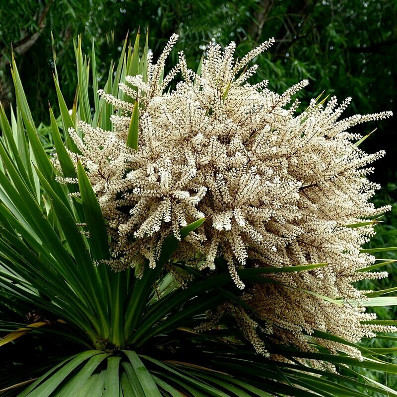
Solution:
[[[165,74],[176,40],[157,63],[147,36],[140,57],[139,33],[126,40],[99,91],[93,49],[92,109],[79,44],[71,115],[56,74],[61,116],[50,108],[46,134],[13,61],[17,108],[11,123],[0,113],[4,396],[397,396],[354,370],[397,374],[395,348],[358,344],[397,331],[365,307],[397,302],[352,285],[391,261],[362,249],[388,209],[368,202],[383,153],[348,132],[391,113],[341,119],[349,99],[336,98],[298,112],[306,80],[281,95],[250,84],[273,40],[240,61],[234,43],[211,44],[197,72],[181,52]]]

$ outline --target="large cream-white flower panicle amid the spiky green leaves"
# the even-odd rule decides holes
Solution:
[[[206,217],[181,241],[176,258],[213,271],[215,258],[226,261],[235,284],[244,289],[242,298],[260,318],[250,318],[232,303],[211,316],[238,317],[259,352],[265,354],[259,330],[305,350],[311,349],[307,335],[315,330],[352,342],[392,330],[363,325],[374,315],[349,303],[365,299],[352,282],[387,274],[357,272],[374,262],[360,253],[374,230],[371,225],[348,227],[389,209],[369,202],[378,185],[366,178],[372,172],[369,164],[384,152],[363,152],[355,145],[360,136],[349,129],[392,113],[343,119],[350,98],[338,105],[335,97],[327,104],[312,100],[296,112],[299,102],[293,96],[307,80],[282,94],[268,89],[266,80],[248,81],[257,69],[249,62],[273,39],[240,61],[234,59],[235,43],[223,50],[210,44],[199,74],[180,52],[178,64],[162,78],[176,39],[171,37],[156,64],[149,59],[145,78],[127,76],[120,84],[140,104],[137,150],[126,143],[133,104],[102,91],[123,111],[112,116],[113,131],[80,123],[83,138],[71,132],[107,221],[109,265],[121,270],[148,260],[154,267],[166,236],[181,239],[181,227]],[[168,90],[179,73],[181,81]],[[280,284],[246,288],[237,272],[316,263],[328,265],[273,274]],[[213,323],[209,320],[208,327]],[[352,347],[324,345],[360,357]]]

